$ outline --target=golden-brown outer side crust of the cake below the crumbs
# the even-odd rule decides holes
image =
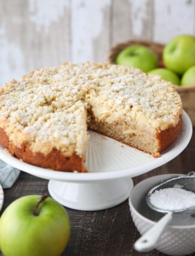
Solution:
[[[172,145],[173,142],[175,142],[179,135],[181,124],[182,115],[179,117],[179,122],[175,127],[170,126],[166,130],[157,131],[156,137],[158,140],[158,152],[153,154],[153,157],[160,157],[160,153]],[[38,167],[44,167],[64,172],[86,172],[85,166],[83,164],[83,157],[79,157],[76,152],[74,152],[71,157],[65,157],[64,154],[62,154],[62,152],[58,151],[57,149],[53,149],[49,154],[44,155],[40,152],[32,152],[28,145],[23,145],[22,148],[18,148],[10,142],[8,135],[2,128],[0,128],[0,143],[5,147],[5,149],[8,150],[11,155],[19,158],[22,161],[25,161],[26,163],[33,164]]]

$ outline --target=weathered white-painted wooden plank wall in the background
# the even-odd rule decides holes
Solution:
[[[0,86],[64,61],[104,61],[130,39],[195,35],[195,0],[0,0]]]

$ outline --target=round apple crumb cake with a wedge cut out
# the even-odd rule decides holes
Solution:
[[[87,128],[158,157],[178,136],[181,120],[172,84],[108,63],[40,69],[0,92],[0,143],[53,170],[85,172]]]

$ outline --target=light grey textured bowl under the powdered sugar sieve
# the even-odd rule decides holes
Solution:
[[[176,175],[153,176],[138,183],[131,191],[129,198],[131,216],[141,235],[155,224],[153,220],[158,220],[163,216],[148,207],[145,200],[146,194],[160,181]],[[167,255],[188,255],[195,252],[194,241],[195,225],[169,225],[161,235],[155,249]]]

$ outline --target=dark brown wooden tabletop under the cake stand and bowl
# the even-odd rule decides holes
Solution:
[[[195,134],[178,157],[145,175],[137,176],[134,184],[162,173],[187,173],[194,170],[194,167]],[[47,183],[47,180],[21,172],[14,186],[4,190],[2,210],[21,196],[48,193]],[[70,208],[67,211],[71,220],[71,237],[63,256],[163,255],[157,251],[142,254],[134,251],[133,244],[139,238],[139,233],[131,219],[127,201],[104,211],[76,211]]]

